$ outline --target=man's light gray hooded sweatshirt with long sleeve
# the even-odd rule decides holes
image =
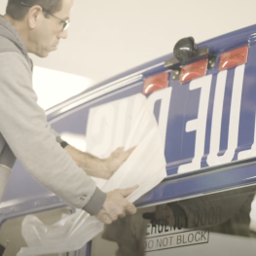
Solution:
[[[96,214],[106,195],[61,148],[32,89],[32,64],[16,28],[0,16],[0,201],[16,161],[43,186]]]

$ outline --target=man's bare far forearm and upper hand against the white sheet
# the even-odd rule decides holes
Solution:
[[[115,150],[109,158],[98,159],[89,153],[85,153],[68,145],[65,151],[71,158],[83,168],[91,177],[109,179],[113,173],[124,164],[135,147],[125,151],[124,148]]]

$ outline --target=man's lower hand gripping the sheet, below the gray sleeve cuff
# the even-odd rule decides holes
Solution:
[[[118,218],[124,218],[127,214],[136,213],[136,207],[126,198],[138,186],[128,189],[117,189],[107,193],[106,201],[97,213],[96,218],[104,224],[111,224]]]

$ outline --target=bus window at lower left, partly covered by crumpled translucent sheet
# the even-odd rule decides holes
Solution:
[[[35,213],[43,223],[52,225],[61,219],[61,214],[71,214],[68,207],[57,208],[48,211]],[[25,240],[21,235],[21,223],[25,216],[13,218],[5,221],[0,228],[0,244],[5,244],[9,240],[9,245],[4,253],[5,256],[17,255],[21,247],[27,247]],[[48,256],[70,256],[73,254],[49,254]]]

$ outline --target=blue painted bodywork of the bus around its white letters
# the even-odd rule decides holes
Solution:
[[[168,177],[136,201],[136,205],[253,184],[256,182],[255,31],[254,25],[201,43],[199,48],[206,47],[217,56],[215,67],[207,70],[204,77],[182,85],[172,80],[164,61],[173,55],[165,55],[55,106],[47,111],[48,120],[59,133],[71,132],[88,138],[91,110],[142,93],[147,78],[167,72],[168,87],[146,97],[159,123]],[[219,72],[220,55],[243,46],[249,47],[247,62]],[[125,117],[126,114],[123,113]],[[99,117],[102,122],[108,118],[107,112],[104,115]],[[119,124],[118,109],[114,110],[114,116],[113,127]],[[101,137],[123,132],[104,128],[100,130]],[[100,139],[102,142],[103,138]],[[31,178],[19,163],[12,172],[4,202],[0,222],[67,205]]]

